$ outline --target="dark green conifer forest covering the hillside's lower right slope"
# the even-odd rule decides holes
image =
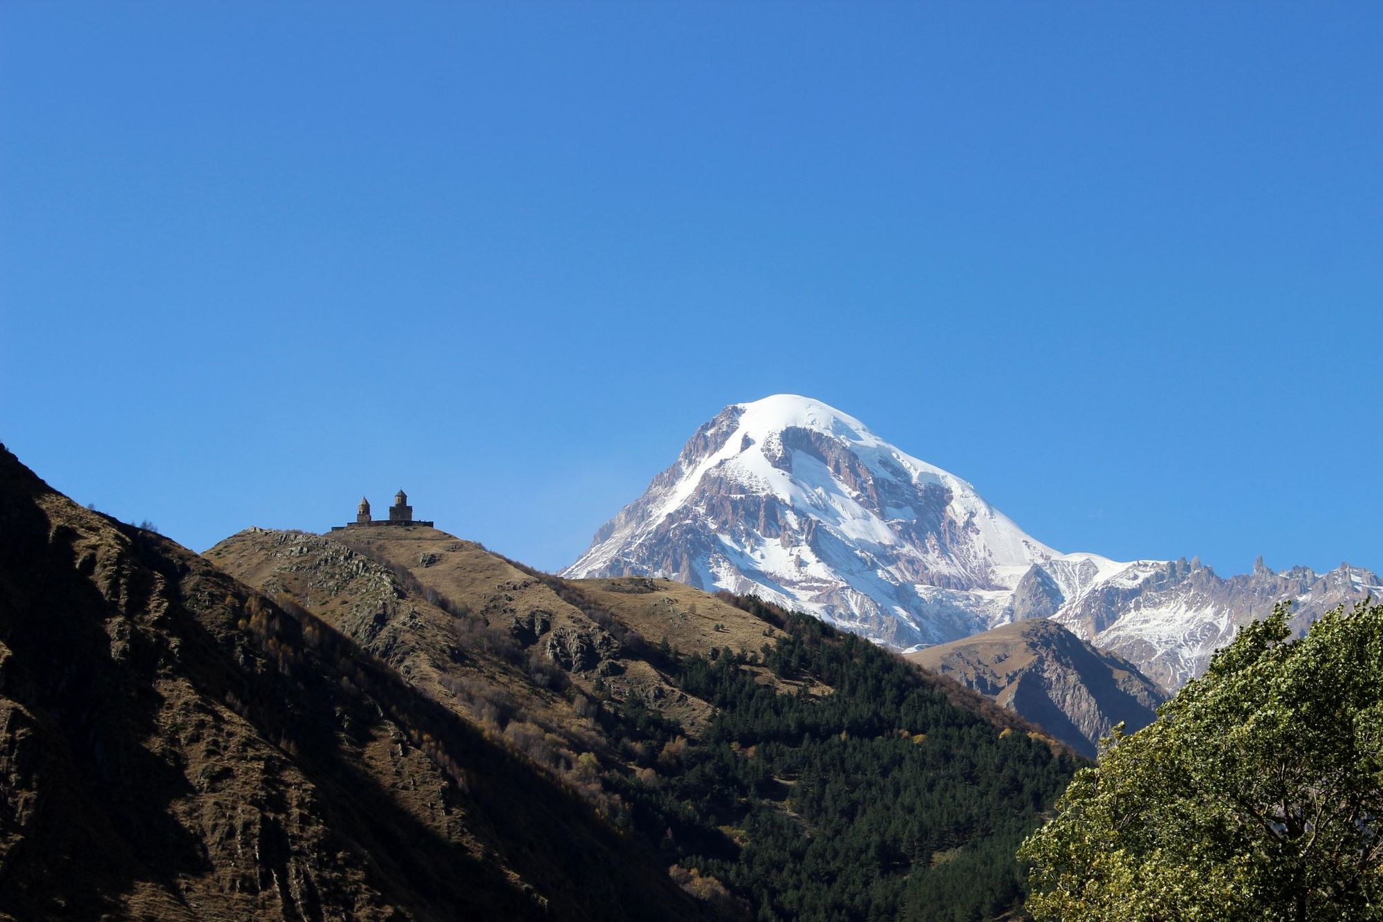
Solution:
[[[784,629],[777,645],[676,663],[678,684],[716,706],[701,739],[625,707],[624,732],[653,770],[622,782],[636,829],[669,864],[727,885],[755,919],[979,919],[1018,908],[1014,850],[1075,760],[1001,735],[869,641],[772,616]],[[765,670],[799,688],[776,691]]]

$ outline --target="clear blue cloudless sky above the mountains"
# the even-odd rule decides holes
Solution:
[[[1383,4],[0,4],[0,440],[532,565],[804,393],[1034,537],[1383,568]]]

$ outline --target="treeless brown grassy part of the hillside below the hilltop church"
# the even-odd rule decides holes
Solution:
[[[588,779],[574,771],[579,753],[595,752],[602,761],[618,754],[582,699],[638,699],[696,735],[711,707],[669,678],[657,652],[661,641],[705,655],[712,648],[758,651],[783,637],[773,617],[745,611],[748,599],[737,605],[664,579],[564,580],[433,527],[325,536],[246,529],[206,557],[272,598],[311,609],[429,696],[506,732],[588,793]],[[783,691],[801,684],[745,669]],[[1000,730],[1037,730],[950,677],[928,681]],[[809,688],[813,695],[831,691],[820,681]],[[526,727],[510,731],[510,723]]]

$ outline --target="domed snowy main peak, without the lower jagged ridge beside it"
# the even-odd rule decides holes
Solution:
[[[773,395],[701,425],[566,575],[754,593],[907,647],[983,630],[1003,602],[954,594],[1001,594],[1054,557],[857,418]]]

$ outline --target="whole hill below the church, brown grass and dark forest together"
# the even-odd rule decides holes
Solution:
[[[564,580],[416,526],[249,529],[207,555],[526,753],[732,918],[999,915],[1075,768],[974,691],[757,599]]]

